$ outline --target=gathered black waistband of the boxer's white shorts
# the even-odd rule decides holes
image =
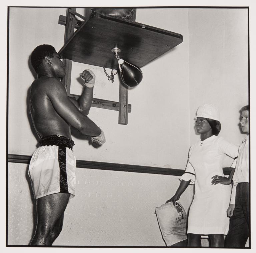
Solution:
[[[57,134],[48,135],[39,140],[39,146],[59,146],[59,147],[68,147],[73,149],[75,145],[74,141],[65,136],[59,136]]]

